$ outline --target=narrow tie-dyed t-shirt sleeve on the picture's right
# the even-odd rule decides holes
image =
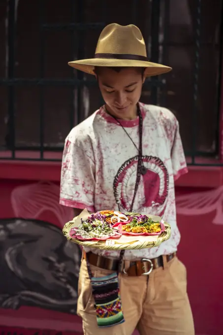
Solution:
[[[179,132],[179,123],[177,119],[175,119],[175,131],[171,149],[171,161],[174,180],[177,180],[181,175],[188,172],[183,144]]]

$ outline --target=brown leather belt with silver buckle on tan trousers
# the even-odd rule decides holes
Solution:
[[[83,256],[86,259],[86,252],[83,250]],[[166,263],[176,257],[176,252],[170,255],[159,256],[153,259],[144,258],[141,261],[127,262],[123,261],[122,272],[128,276],[149,275],[153,269],[165,266]],[[89,263],[95,267],[105,270],[117,271],[119,260],[110,260],[109,258],[99,256],[93,252],[88,253]]]

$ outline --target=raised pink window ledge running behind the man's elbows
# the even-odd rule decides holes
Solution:
[[[1,151],[0,156],[5,152]],[[26,152],[27,158],[33,158],[32,151]],[[9,180],[31,180],[31,181],[53,181],[59,184],[61,178],[61,153],[46,153],[47,159],[54,158],[59,161],[13,161],[0,160],[0,179]],[[191,159],[187,159],[190,163]],[[177,187],[209,187],[218,188],[223,184],[223,167],[215,166],[220,162],[216,159],[196,159],[197,164],[213,164],[213,166],[189,166],[189,173],[184,174],[175,181]]]

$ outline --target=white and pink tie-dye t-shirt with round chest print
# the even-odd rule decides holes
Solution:
[[[143,117],[141,175],[133,211],[163,216],[171,225],[171,237],[159,247],[127,250],[126,260],[155,258],[177,250],[180,233],[176,223],[174,180],[187,172],[179,125],[168,109],[140,103]],[[136,147],[138,118],[119,120]],[[128,211],[137,171],[138,150],[121,125],[101,107],[74,127],[65,140],[60,203],[65,206]],[[86,249],[88,251],[90,249]],[[92,249],[118,258],[119,251]]]

